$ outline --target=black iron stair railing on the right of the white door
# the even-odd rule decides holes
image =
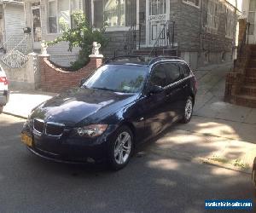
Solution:
[[[159,53],[165,55],[166,49],[174,48],[174,33],[175,33],[175,22],[167,20],[166,24],[163,25],[158,37],[154,42],[154,46],[148,56],[158,56]]]

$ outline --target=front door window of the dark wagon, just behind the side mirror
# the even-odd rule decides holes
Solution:
[[[150,77],[150,83],[160,87],[168,85],[166,76],[166,67],[163,64],[154,67],[154,70]]]

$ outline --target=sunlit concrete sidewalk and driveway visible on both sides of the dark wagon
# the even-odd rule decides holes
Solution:
[[[251,172],[256,157],[256,109],[225,103],[225,74],[230,64],[195,71],[199,83],[189,124],[167,130],[148,149],[163,157],[185,158]],[[12,91],[3,112],[26,118],[33,107],[55,94]]]

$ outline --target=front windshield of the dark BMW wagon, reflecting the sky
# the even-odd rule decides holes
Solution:
[[[83,87],[122,93],[137,93],[143,88],[148,69],[145,66],[105,65],[100,67]]]

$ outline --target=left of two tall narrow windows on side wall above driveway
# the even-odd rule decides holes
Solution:
[[[218,1],[207,0],[207,28],[218,29]]]

